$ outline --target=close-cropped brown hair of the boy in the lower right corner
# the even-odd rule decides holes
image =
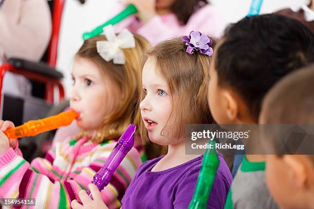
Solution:
[[[266,124],[314,124],[314,65],[290,73],[280,80],[266,95],[261,116]],[[277,126],[274,126],[276,129]],[[271,129],[264,132],[268,150],[276,154],[283,150],[282,139]],[[299,138],[294,138],[298,140]],[[296,141],[286,143],[295,144]],[[289,147],[288,144],[287,147]],[[298,148],[298,147],[296,147]],[[300,148],[299,148],[300,149]],[[299,150],[303,151],[303,150]],[[314,162],[314,155],[309,155]]]

